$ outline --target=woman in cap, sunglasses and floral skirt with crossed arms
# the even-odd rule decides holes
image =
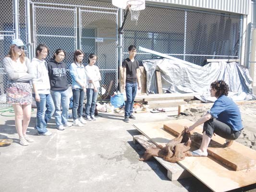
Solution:
[[[12,104],[15,112],[15,127],[19,135],[20,144],[28,145],[34,142],[26,135],[31,117],[33,79],[30,60],[24,54],[25,45],[20,39],[13,39],[8,55],[3,59],[5,72],[9,77],[6,89],[6,102]]]

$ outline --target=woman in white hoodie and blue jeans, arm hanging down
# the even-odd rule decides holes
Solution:
[[[36,48],[36,57],[32,59],[33,73],[33,96],[37,104],[37,123],[35,129],[38,135],[51,135],[46,129],[47,122],[51,119],[55,107],[50,95],[50,82],[45,58],[49,48],[45,44],[39,44]]]

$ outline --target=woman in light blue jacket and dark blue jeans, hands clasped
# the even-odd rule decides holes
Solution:
[[[73,63],[70,65],[70,75],[72,77],[72,92],[73,92],[73,126],[82,127],[86,124],[83,119],[83,104],[85,99],[86,89],[86,74],[85,66],[82,64],[84,53],[82,50],[75,50]],[[78,108],[78,111],[77,111]],[[77,117],[78,113],[78,117]]]

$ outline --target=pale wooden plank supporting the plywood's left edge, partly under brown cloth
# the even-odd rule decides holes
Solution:
[[[148,149],[149,147],[156,147],[156,145],[153,144],[152,142],[150,142],[144,135],[134,135],[133,138],[134,138],[134,141],[141,144],[145,149]],[[158,156],[154,156],[154,158],[164,168],[167,169],[167,177],[170,180],[181,180],[181,179],[188,178],[188,177],[192,176],[187,170],[182,168],[177,163],[171,163],[171,162],[165,161],[163,158],[160,158]]]

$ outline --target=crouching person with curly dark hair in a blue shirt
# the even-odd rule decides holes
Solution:
[[[207,156],[207,147],[214,133],[226,139],[226,146],[230,146],[237,139],[242,130],[241,113],[238,106],[227,97],[229,86],[224,81],[215,81],[211,84],[211,96],[217,100],[207,113],[197,120],[186,132],[191,132],[196,126],[204,123],[203,139],[200,148],[193,151],[193,156]]]

